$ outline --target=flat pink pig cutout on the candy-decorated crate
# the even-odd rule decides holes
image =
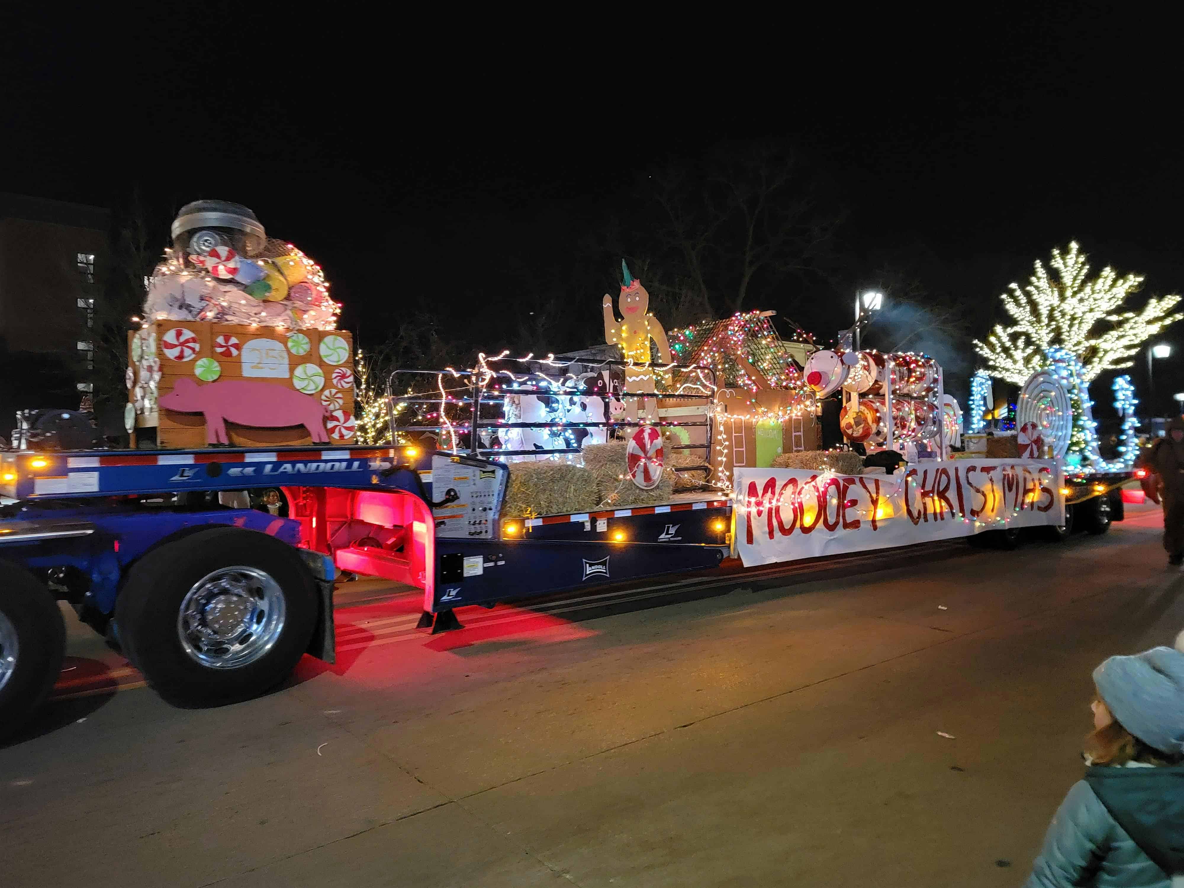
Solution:
[[[199,386],[192,379],[176,380],[173,391],[160,399],[165,410],[205,413],[206,443],[230,444],[226,422],[253,429],[282,429],[303,425],[313,443],[327,444],[326,408],[316,398],[268,382],[224,379]]]

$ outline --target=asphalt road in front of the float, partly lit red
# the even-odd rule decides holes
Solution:
[[[1018,884],[1092,668],[1184,628],[1159,513],[1127,508],[1102,538],[435,638],[380,598],[340,611],[336,667],[220,709],[79,629],[59,693],[85,695],[0,749],[0,884]]]

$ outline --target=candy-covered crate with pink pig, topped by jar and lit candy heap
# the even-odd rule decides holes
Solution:
[[[128,334],[141,446],[348,443],[353,339],[321,268],[238,204],[187,204]]]

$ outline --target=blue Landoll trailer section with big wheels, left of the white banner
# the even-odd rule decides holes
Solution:
[[[59,674],[59,599],[162,696],[217,704],[333,661],[337,571],[423,590],[437,632],[464,605],[716,567],[731,542],[719,494],[503,520],[507,477],[418,446],[0,453],[0,736]]]

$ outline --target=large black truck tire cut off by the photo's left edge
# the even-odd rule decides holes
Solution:
[[[62,673],[66,628],[50,590],[0,561],[0,741],[24,725]]]

